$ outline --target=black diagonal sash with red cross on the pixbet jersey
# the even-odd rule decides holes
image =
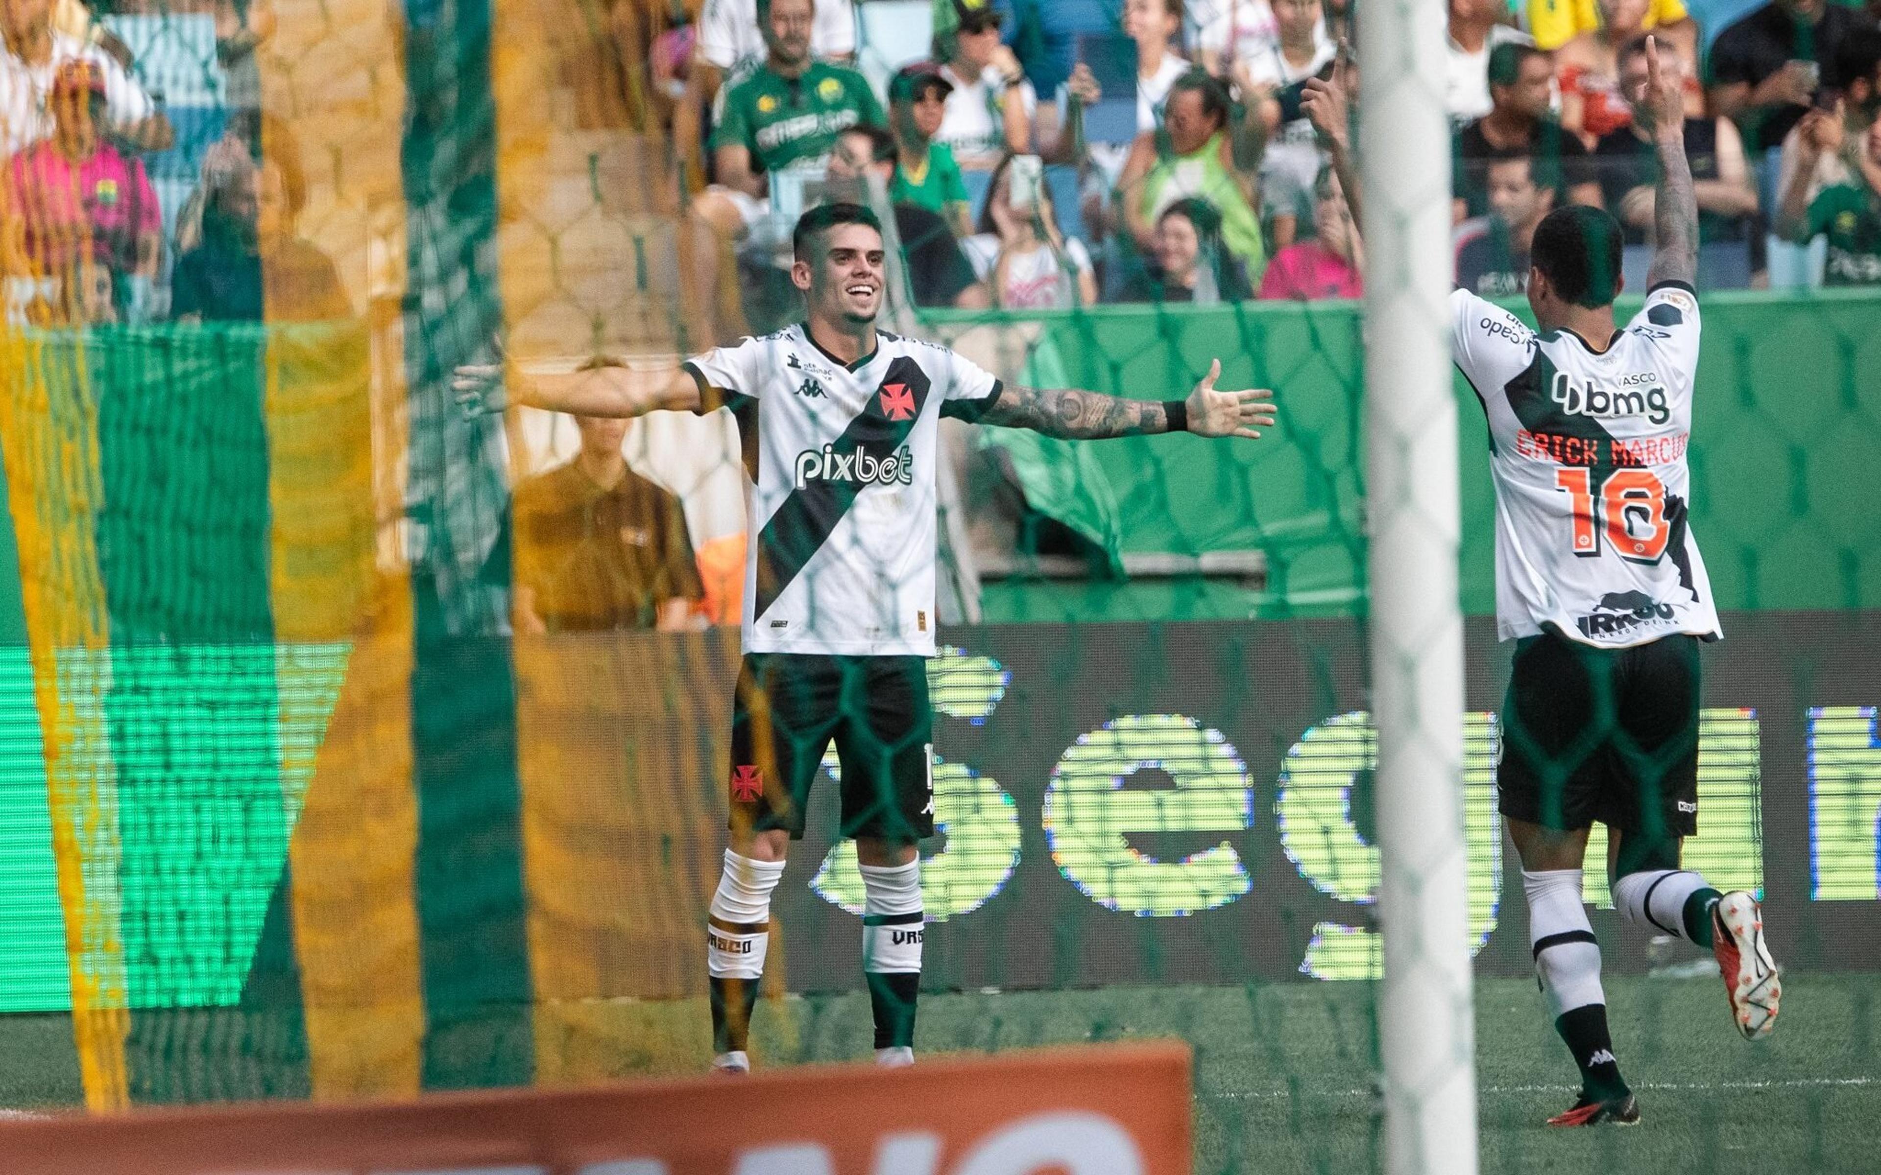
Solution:
[[[867,453],[886,461],[909,440],[927,406],[929,380],[907,355],[888,365],[888,374],[869,393],[861,415],[848,423],[830,447],[837,457]],[[901,419],[895,419],[901,417]],[[764,619],[790,581],[830,541],[837,523],[861,493],[856,481],[811,481],[790,491],[784,504],[758,534],[758,600],[752,617]]]

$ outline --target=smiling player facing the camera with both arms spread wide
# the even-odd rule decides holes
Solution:
[[[882,233],[860,205],[811,209],[790,278],[809,321],[679,368],[602,367],[517,387],[577,415],[730,408],[749,474],[743,667],[732,713],[732,844],[705,931],[715,1070],[747,1072],[771,891],[824,750],[841,765],[843,837],[865,887],[861,964],[880,1064],[914,1060],[922,972],[916,842],[935,831],[935,462],[942,415],[1050,436],[1260,436],[1272,393],[1187,400],[1001,384],[944,346],[875,327]]]

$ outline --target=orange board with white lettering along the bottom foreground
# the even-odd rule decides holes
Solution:
[[[1183,1175],[1189,1049],[0,1122],[8,1175]]]

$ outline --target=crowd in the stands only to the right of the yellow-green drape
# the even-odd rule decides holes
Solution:
[[[1356,117],[1354,4],[893,8],[931,28],[918,60],[905,32],[869,43],[880,21],[860,21],[858,43],[848,0],[703,0],[692,60],[673,68],[687,75],[672,83],[675,145],[707,180],[694,207],[741,258],[754,305],[767,282],[784,290],[790,214],[871,173],[920,305],[1360,295],[1356,173],[1339,175],[1334,128],[1307,109],[1334,86]],[[734,24],[762,36],[734,47],[711,32]],[[1629,286],[1644,284],[1655,162],[1633,103],[1646,36],[1685,77],[1700,288],[1881,280],[1873,11],[1450,0],[1446,34],[1460,286],[1520,295],[1529,237],[1563,203],[1610,211]]]

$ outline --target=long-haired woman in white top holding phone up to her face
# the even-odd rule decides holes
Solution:
[[[1063,310],[1097,301],[1091,254],[1065,237],[1040,182],[1036,156],[1012,156],[993,171],[980,235],[967,241],[986,271],[993,305],[1004,310]]]

